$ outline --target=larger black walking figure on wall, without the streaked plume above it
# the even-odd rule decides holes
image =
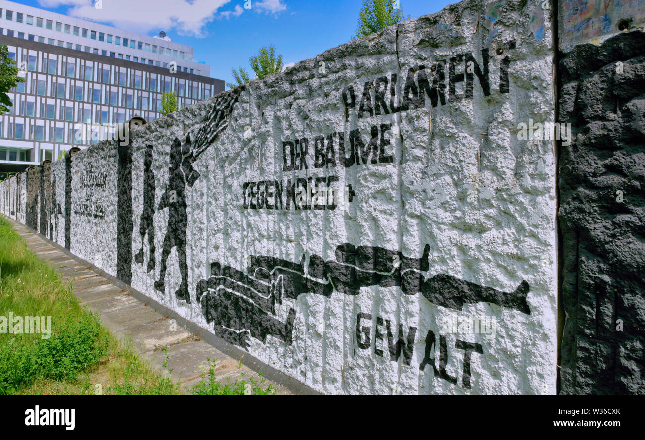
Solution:
[[[166,276],[166,261],[173,247],[177,248],[179,257],[179,272],[181,273],[181,285],[175,291],[175,296],[180,300],[190,303],[188,294],[188,266],[186,265],[186,185],[192,187],[199,173],[193,168],[195,155],[191,149],[190,135],[186,141],[175,138],[170,146],[170,176],[168,186],[159,201],[157,209],[168,208],[168,228],[163,240],[161,251],[161,271],[159,281],[155,282],[155,289],[165,292],[164,278]]]

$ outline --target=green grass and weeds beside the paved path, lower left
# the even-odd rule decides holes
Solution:
[[[0,216],[0,316],[50,316],[51,335],[0,332],[0,395],[180,394],[120,345]],[[42,329],[41,329],[42,330]]]

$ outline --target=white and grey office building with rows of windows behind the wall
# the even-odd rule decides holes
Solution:
[[[0,0],[0,44],[26,79],[0,120],[0,172],[107,139],[135,115],[157,119],[165,91],[181,108],[224,90],[192,47],[161,36]]]

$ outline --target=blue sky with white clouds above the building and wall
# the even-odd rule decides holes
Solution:
[[[59,14],[157,35],[193,46],[194,58],[211,66],[211,76],[231,81],[231,69],[251,72],[248,57],[275,44],[284,64],[313,58],[346,43],[356,30],[362,0],[139,0],[145,13],[130,9],[137,0],[20,0]],[[244,4],[250,1],[250,10]],[[439,12],[454,1],[401,0],[412,18]]]

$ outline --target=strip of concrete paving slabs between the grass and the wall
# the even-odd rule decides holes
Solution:
[[[79,258],[70,256],[59,246],[43,239],[25,226],[13,221],[12,224],[15,231],[26,240],[30,251],[52,265],[55,271],[61,274],[63,282],[72,282],[74,295],[81,304],[90,311],[97,312],[103,324],[117,339],[131,338],[135,349],[141,353],[142,358],[147,359],[150,365],[162,374],[166,374],[163,363],[166,361],[167,352],[167,368],[168,370],[172,368],[170,376],[174,381],[181,380],[184,393],[199,382],[203,372],[200,367],[208,365],[207,359],[209,358],[212,361],[217,361],[215,376],[219,381],[225,383],[226,378],[235,379],[239,364],[237,358],[227,356],[221,350],[202,340],[199,334],[190,332],[186,326],[180,325],[181,320],[175,320],[176,323],[171,321],[166,314],[169,313],[167,309],[163,312],[155,311],[151,307],[152,304],[149,305],[137,300],[132,294],[132,289],[128,289],[128,286],[116,280],[111,281],[109,278],[112,277],[108,274],[102,273],[100,269],[87,262],[83,263],[83,260]],[[119,284],[125,289],[119,287]],[[142,300],[145,301],[145,297]],[[150,302],[152,303],[152,300]],[[159,308],[157,307],[157,309]],[[210,334],[208,336],[211,339],[215,338]],[[235,347],[226,347],[226,343],[221,345],[222,342],[219,340],[220,348],[239,352]],[[167,347],[166,352],[159,347]],[[259,364],[248,354],[241,354],[241,358],[244,364],[251,363],[255,367],[254,370],[263,371],[265,377],[271,375],[267,374],[268,370],[272,370],[271,367]],[[245,373],[244,376],[247,378],[248,376],[258,378],[255,371],[246,365],[243,365],[241,371]],[[265,385],[272,383],[277,388],[277,394],[313,394],[313,390],[296,383],[288,376],[281,377],[281,373],[276,373],[275,370],[270,373],[277,379],[284,379],[281,381],[282,384],[275,381],[265,383]],[[284,383],[287,383],[287,386]]]

